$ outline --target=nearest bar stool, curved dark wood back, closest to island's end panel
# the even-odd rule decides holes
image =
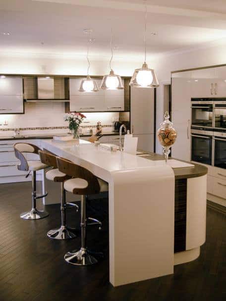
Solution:
[[[70,251],[64,255],[64,259],[75,265],[91,265],[98,260],[94,253],[86,247],[86,219],[87,195],[99,194],[108,191],[108,183],[94,176],[89,170],[78,166],[71,161],[56,157],[59,171],[73,177],[64,182],[64,189],[75,195],[81,196],[81,248],[78,251]]]

